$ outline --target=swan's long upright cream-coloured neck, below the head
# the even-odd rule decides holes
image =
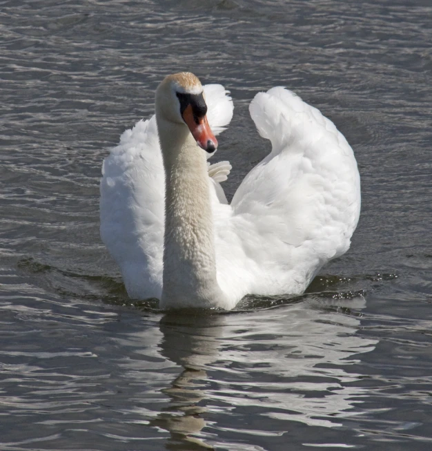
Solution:
[[[166,175],[161,307],[223,304],[204,151],[188,128],[157,117]]]

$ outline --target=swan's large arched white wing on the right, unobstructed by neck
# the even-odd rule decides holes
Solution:
[[[320,111],[284,88],[250,106],[272,151],[215,209],[219,285],[247,293],[300,293],[349,245],[360,214],[353,151]]]

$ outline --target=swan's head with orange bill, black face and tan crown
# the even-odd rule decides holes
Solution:
[[[206,113],[204,90],[193,73],[168,75],[156,90],[157,116],[187,126],[199,147],[212,153],[217,148],[217,140],[210,130]]]

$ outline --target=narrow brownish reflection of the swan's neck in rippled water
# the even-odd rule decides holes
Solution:
[[[220,314],[167,314],[161,319],[161,354],[184,368],[162,390],[170,397],[170,405],[150,423],[170,432],[169,450],[213,449],[196,437],[206,425],[202,417],[206,409],[198,403],[208,397],[206,365],[217,358],[225,318]]]

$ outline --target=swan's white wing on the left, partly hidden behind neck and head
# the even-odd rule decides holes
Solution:
[[[204,86],[213,133],[233,117],[233,101],[220,85]],[[209,167],[212,202],[226,202],[219,185],[228,162]],[[165,174],[156,118],[125,131],[104,160],[100,184],[101,238],[119,265],[129,296],[160,298],[164,245]]]

